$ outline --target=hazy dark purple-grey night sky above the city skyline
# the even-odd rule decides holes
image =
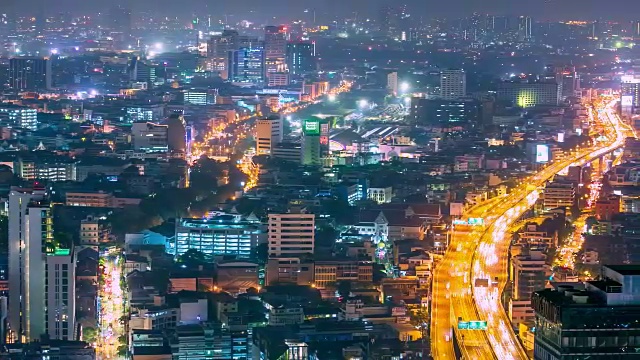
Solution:
[[[37,4],[46,4],[47,13],[60,11],[104,11],[116,3],[131,4],[136,11],[154,9],[166,14],[189,15],[207,11],[212,14],[246,14],[253,10],[262,16],[280,19],[305,16],[304,9],[316,9],[319,18],[327,13],[337,15],[357,11],[359,17],[377,19],[383,5],[401,4],[393,0],[0,0],[20,4],[20,13],[34,11]],[[473,12],[493,14],[526,14],[541,20],[640,19],[640,0],[405,0],[416,17],[463,16]],[[55,4],[55,5],[54,5]],[[29,5],[28,7],[26,5]],[[258,16],[258,15],[255,15]]]

